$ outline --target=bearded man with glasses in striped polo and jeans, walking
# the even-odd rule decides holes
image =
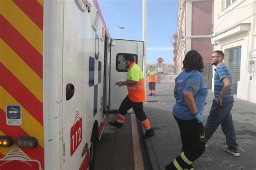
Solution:
[[[216,68],[214,69],[214,100],[205,125],[206,141],[212,137],[215,130],[221,125],[227,144],[227,146],[223,146],[223,150],[234,157],[239,157],[240,154],[238,152],[238,144],[235,141],[235,129],[231,115],[234,102],[231,73],[223,62],[223,51],[214,51],[210,59],[211,64],[216,66]]]

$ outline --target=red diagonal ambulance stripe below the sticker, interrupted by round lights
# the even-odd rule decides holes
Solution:
[[[8,126],[5,122],[5,112],[0,109],[0,129],[3,131],[6,136],[12,137],[15,143],[17,143],[17,138],[21,136],[29,136],[20,126]],[[31,127],[32,128],[32,127]],[[33,148],[21,148],[31,159],[38,160],[41,162],[42,167],[44,167],[44,148],[40,145],[37,145]]]

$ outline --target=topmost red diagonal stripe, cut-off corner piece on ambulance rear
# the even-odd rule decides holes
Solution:
[[[44,8],[37,0],[13,0],[16,5],[43,31]]]

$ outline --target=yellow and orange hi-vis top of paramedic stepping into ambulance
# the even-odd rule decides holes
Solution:
[[[127,80],[138,81],[135,85],[127,85],[128,97],[132,102],[144,102],[145,101],[145,87],[144,76],[142,69],[133,62],[128,69]]]

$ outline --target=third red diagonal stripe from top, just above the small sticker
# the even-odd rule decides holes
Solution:
[[[43,104],[3,65],[3,63],[0,63],[0,73],[3,88],[21,103],[21,105],[43,126]]]

